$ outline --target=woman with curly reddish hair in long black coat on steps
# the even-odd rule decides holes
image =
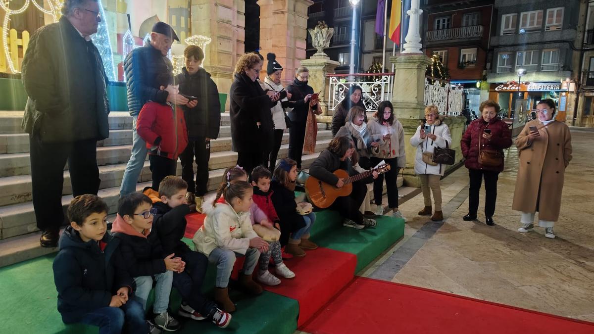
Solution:
[[[279,93],[264,90],[257,82],[263,61],[255,52],[239,57],[235,64],[235,80],[231,84],[230,118],[231,149],[237,152],[237,165],[248,174],[255,166],[267,162],[264,155],[274,143],[274,126],[270,108],[279,100]]]

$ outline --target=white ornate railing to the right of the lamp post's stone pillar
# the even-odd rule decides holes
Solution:
[[[441,113],[459,116],[462,113],[463,88],[450,81],[425,77],[425,105],[435,105]]]

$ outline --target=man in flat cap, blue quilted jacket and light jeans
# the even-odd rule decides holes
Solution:
[[[124,73],[128,90],[128,109],[134,117],[132,124],[132,153],[124,171],[120,196],[136,191],[138,176],[143,169],[147,156],[145,141],[136,133],[136,121],[140,109],[149,101],[175,105],[186,105],[188,99],[179,94],[169,95],[166,90],[155,87],[159,74],[171,73],[173,65],[167,53],[171,49],[173,40],[179,41],[178,35],[169,24],[157,22],[150,34],[150,42],[142,48],[132,50],[124,60]],[[196,103],[195,101],[192,103]]]

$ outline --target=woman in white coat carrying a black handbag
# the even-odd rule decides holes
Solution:
[[[415,136],[410,138],[410,144],[416,147],[415,174],[421,178],[421,190],[425,199],[425,208],[419,211],[419,216],[431,215],[431,193],[435,201],[433,221],[443,220],[441,211],[440,179],[444,175],[445,166],[432,162],[435,147],[445,147],[447,142],[451,146],[450,128],[439,116],[437,106],[430,105],[425,108],[425,123],[416,128]],[[424,157],[425,156],[425,157]]]

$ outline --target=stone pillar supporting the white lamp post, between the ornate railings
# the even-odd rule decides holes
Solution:
[[[421,180],[415,175],[416,149],[410,146],[419,119],[425,118],[425,71],[431,64],[426,55],[396,55],[390,57],[394,64],[394,89],[392,104],[394,114],[405,130],[406,168],[403,172],[405,185],[421,187]]]

